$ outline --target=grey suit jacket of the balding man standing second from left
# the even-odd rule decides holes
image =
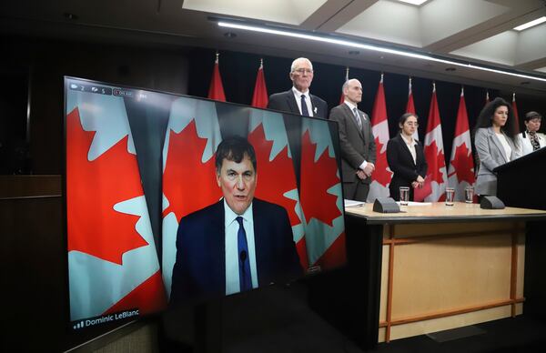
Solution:
[[[343,182],[352,183],[359,180],[357,170],[364,160],[374,163],[376,161],[375,139],[371,132],[369,116],[359,110],[362,118],[362,129],[359,129],[357,121],[349,106],[345,103],[332,108],[329,119],[339,123],[339,146],[341,146],[341,168]],[[366,118],[364,118],[364,116]],[[369,184],[371,178],[362,180]]]

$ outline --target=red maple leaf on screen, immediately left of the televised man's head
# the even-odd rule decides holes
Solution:
[[[167,165],[163,172],[163,194],[169,206],[163,217],[174,212],[177,221],[188,214],[217,202],[222,193],[217,186],[214,157],[201,161],[207,138],[197,136],[192,120],[178,134],[169,132]]]

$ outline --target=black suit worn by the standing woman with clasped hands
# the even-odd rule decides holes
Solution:
[[[417,141],[415,146],[416,161],[413,162],[410,149],[402,136],[397,135],[389,139],[387,144],[387,162],[390,170],[394,173],[390,180],[390,197],[399,201],[399,187],[410,187],[410,199],[413,199],[413,188],[411,182],[417,179],[417,176],[427,176],[427,160],[423,153],[423,146]]]

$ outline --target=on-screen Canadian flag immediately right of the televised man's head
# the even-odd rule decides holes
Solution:
[[[287,210],[300,265],[307,269],[303,214],[283,116],[279,113],[252,109],[248,127],[248,142],[254,146],[258,165],[259,182],[255,196]]]

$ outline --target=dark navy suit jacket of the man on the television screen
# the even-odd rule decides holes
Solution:
[[[286,209],[252,201],[258,286],[302,274]],[[224,200],[180,220],[170,303],[226,295]]]

